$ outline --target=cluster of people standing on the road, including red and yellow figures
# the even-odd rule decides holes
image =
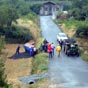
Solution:
[[[60,41],[59,44],[56,46],[58,56],[60,56],[61,49],[62,49],[62,41]],[[52,58],[54,56],[55,46],[53,43],[49,43],[46,39],[44,39],[43,44],[41,44],[40,50],[48,52],[49,58]]]

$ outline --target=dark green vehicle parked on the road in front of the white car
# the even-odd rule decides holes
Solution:
[[[79,56],[78,44],[74,39],[64,40],[64,52],[67,56]]]

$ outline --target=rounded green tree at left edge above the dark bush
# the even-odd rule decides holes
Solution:
[[[10,6],[0,6],[0,25],[3,27],[5,25],[11,26],[12,21],[16,22],[18,14],[16,9]]]

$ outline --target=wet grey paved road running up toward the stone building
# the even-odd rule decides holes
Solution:
[[[60,28],[49,16],[40,17],[42,35],[56,46],[56,35]],[[49,60],[49,78],[52,82],[49,88],[88,88],[88,64],[81,57],[67,57],[63,51],[61,56]]]

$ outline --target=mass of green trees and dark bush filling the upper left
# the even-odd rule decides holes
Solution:
[[[12,23],[17,23],[17,19],[28,14],[30,14],[30,19],[35,19],[39,11],[38,8],[38,5],[34,7],[25,0],[0,0],[0,35],[5,36],[5,40],[8,42],[15,39],[17,43],[24,43],[33,39],[29,30],[16,27]]]

